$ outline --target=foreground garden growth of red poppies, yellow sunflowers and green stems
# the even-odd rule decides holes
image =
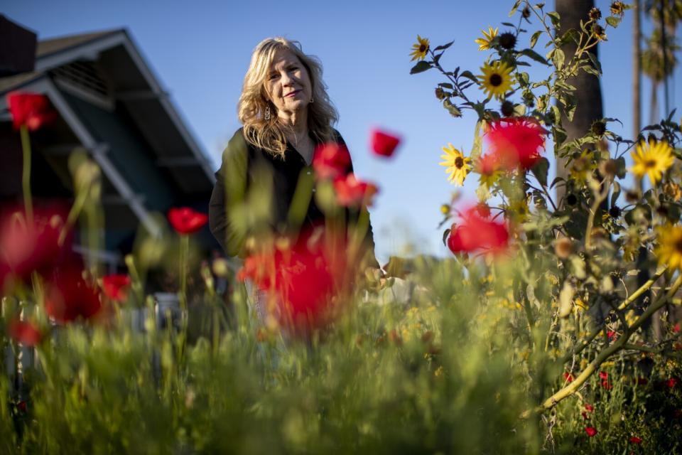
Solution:
[[[441,207],[451,255],[392,261],[386,277],[352,273],[377,188],[339,172],[340,146],[316,152],[296,197],[350,234],[249,237],[234,269],[201,261],[207,219],[175,208],[159,220],[171,228],[141,230],[125,274],[104,274],[70,255],[74,237],[102,242],[99,168],[75,151],[72,204],[34,206],[30,134],[54,114],[43,95],[9,95],[24,173],[23,204],[0,220],[0,452],[681,453],[680,124],[670,112],[632,139],[615,118],[579,138],[563,127],[572,78],[601,75],[593,50],[624,14],[613,1],[563,30],[517,0],[502,31],[472,37],[470,70],[446,65],[452,42],[418,36],[411,73],[438,72],[438,102],[477,120],[470,149],[443,144],[445,177],[479,185]],[[377,159],[398,144],[373,134]],[[263,232],[267,200],[243,196],[229,213]],[[175,283],[177,317],[148,294],[152,274]],[[276,311],[256,317],[245,282]],[[386,299],[400,282],[408,298]]]

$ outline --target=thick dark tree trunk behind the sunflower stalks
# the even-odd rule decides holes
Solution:
[[[570,28],[580,30],[580,20],[588,21],[588,13],[594,8],[594,0],[556,0],[556,12],[561,16],[561,31],[563,33]],[[576,44],[573,41],[563,46],[566,60],[568,61],[575,53]],[[598,58],[598,45],[590,51]],[[581,71],[577,76],[568,80],[575,90],[576,102],[578,107],[573,115],[573,122],[569,122],[562,115],[561,122],[566,130],[566,141],[572,141],[578,137],[583,137],[590,130],[592,122],[604,117],[602,108],[602,88],[599,77]],[[567,171],[563,160],[558,159],[556,163],[556,175],[566,178]],[[557,190],[557,199],[563,198],[564,187]]]

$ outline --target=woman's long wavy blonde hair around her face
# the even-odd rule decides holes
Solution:
[[[289,50],[301,60],[308,70],[313,85],[313,101],[308,105],[308,130],[318,143],[332,141],[338,121],[338,114],[327,94],[322,80],[322,63],[313,55],[305,55],[298,41],[290,41],[277,36],[266,38],[256,45],[251,55],[251,64],[244,75],[242,95],[237,104],[239,122],[244,125],[244,138],[256,147],[269,151],[275,156],[284,157],[286,134],[278,122],[276,107],[269,101],[265,83],[270,66],[278,50]],[[265,119],[265,109],[270,107],[270,119]]]

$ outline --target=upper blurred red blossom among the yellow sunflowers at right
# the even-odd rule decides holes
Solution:
[[[511,171],[532,168],[544,148],[545,131],[529,117],[500,119],[486,134],[490,149],[500,168]]]

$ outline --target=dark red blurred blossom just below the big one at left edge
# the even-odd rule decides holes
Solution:
[[[78,269],[60,271],[45,290],[45,311],[60,323],[90,319],[102,309],[99,291]]]

